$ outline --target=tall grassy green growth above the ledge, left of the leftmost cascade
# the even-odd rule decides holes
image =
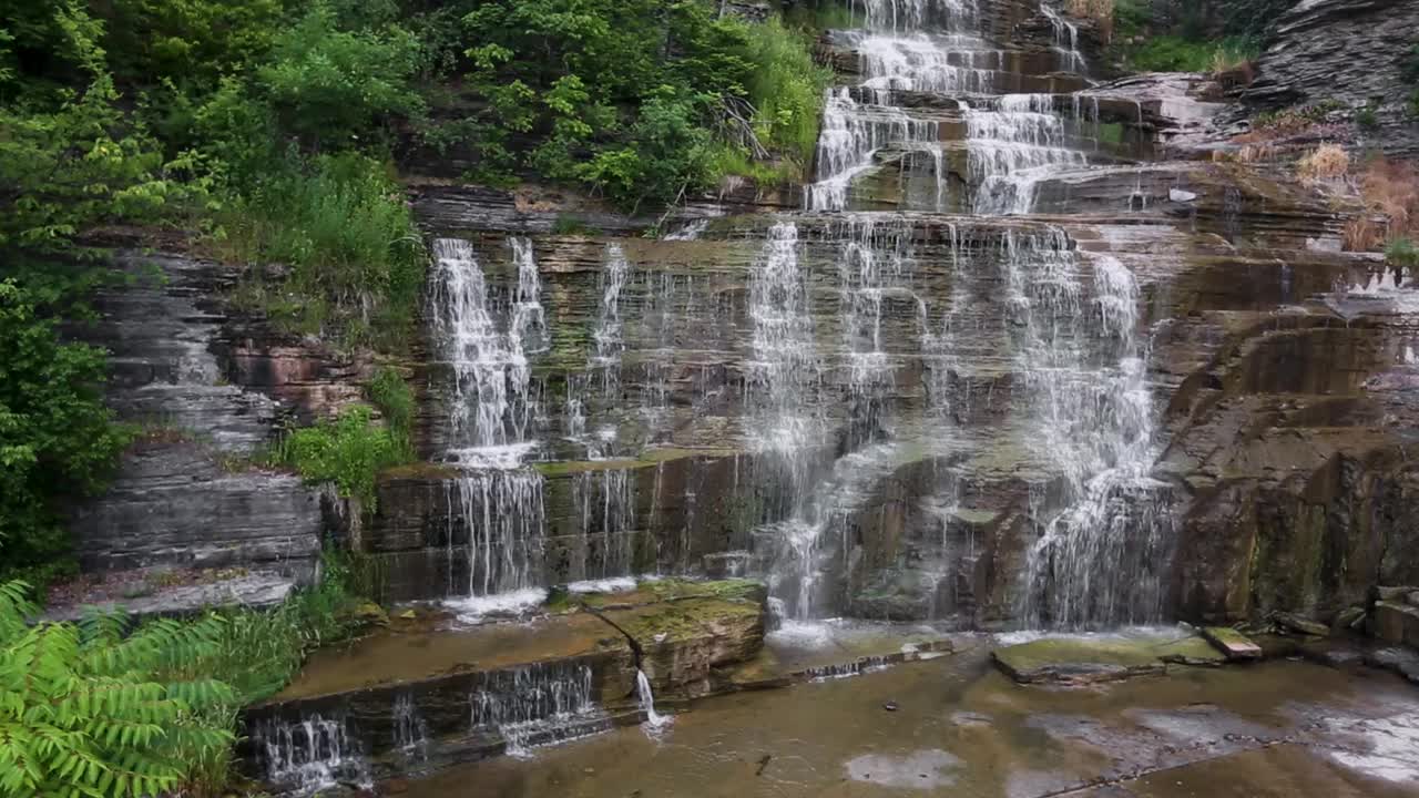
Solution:
[[[289,267],[284,280],[253,287],[278,321],[346,345],[407,342],[427,258],[403,192],[379,162],[299,163],[261,179],[220,219],[224,257]]]

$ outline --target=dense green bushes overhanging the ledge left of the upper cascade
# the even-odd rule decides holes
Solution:
[[[812,158],[829,75],[778,20],[704,0],[488,0],[461,26],[471,98],[450,98],[423,138],[470,149],[481,179],[532,169],[634,209],[714,185],[724,143]]]

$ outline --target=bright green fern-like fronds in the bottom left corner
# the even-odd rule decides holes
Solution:
[[[219,618],[30,626],[27,594],[0,584],[0,798],[156,797],[230,747],[231,687],[172,676],[216,653]]]

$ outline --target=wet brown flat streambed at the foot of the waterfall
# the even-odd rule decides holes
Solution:
[[[1297,662],[1186,673],[1022,690],[990,669],[983,649],[965,650],[847,682],[714,699],[657,740],[622,730],[406,789],[444,798],[477,778],[507,798],[1419,794],[1405,754],[1419,699],[1402,682],[1352,682]],[[897,711],[878,709],[888,700]]]

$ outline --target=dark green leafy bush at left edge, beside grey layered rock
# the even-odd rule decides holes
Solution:
[[[0,283],[0,576],[71,567],[65,514],[105,487],[129,430],[104,406],[104,352],[60,344],[13,280]]]

